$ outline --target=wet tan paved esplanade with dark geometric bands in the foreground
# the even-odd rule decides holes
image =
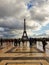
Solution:
[[[49,65],[49,50],[44,53],[37,45],[30,47],[29,42],[20,46],[6,42],[0,48],[0,65]]]

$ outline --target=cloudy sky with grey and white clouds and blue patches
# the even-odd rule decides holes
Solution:
[[[49,0],[0,0],[0,38],[49,35]]]

